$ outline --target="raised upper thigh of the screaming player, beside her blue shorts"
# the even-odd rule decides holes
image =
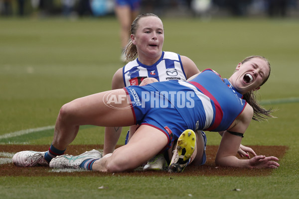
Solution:
[[[73,100],[63,105],[59,114],[66,115],[67,122],[76,125],[130,126],[135,124],[131,104],[123,89]]]

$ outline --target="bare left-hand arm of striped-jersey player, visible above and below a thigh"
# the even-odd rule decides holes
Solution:
[[[112,89],[124,88],[123,70],[120,68],[112,78]],[[105,127],[104,151],[103,155],[113,153],[120,138],[123,127]]]

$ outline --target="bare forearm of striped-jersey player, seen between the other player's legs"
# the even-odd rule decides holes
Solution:
[[[113,153],[123,127],[105,127],[103,155]]]

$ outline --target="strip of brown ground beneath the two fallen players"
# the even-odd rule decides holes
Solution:
[[[47,145],[0,145],[0,152],[16,153],[18,151],[32,150],[32,151],[46,151]],[[119,147],[119,146],[118,146]],[[258,155],[276,156],[281,159],[288,150],[287,146],[249,146]],[[103,149],[103,145],[70,145],[67,149],[68,154],[81,154],[92,149]],[[0,176],[268,176],[273,169],[243,169],[231,167],[216,167],[214,160],[217,153],[218,146],[207,146],[207,162],[202,166],[189,165],[185,168],[183,173],[169,174],[167,171],[147,171],[135,170],[133,172],[123,172],[117,174],[102,173],[102,172],[50,172],[48,167],[31,167],[20,168],[14,166],[13,163],[0,165]]]

